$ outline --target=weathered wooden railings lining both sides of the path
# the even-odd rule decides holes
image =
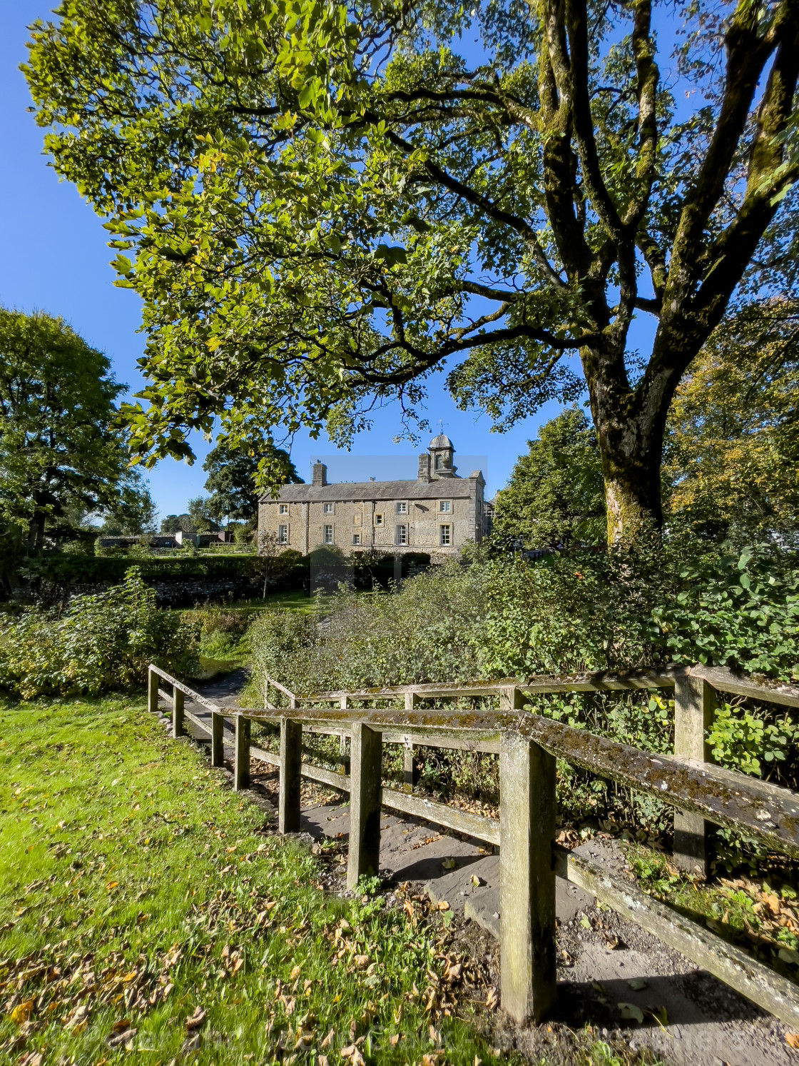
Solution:
[[[623,917],[661,937],[689,959],[799,1028],[799,987],[746,951],[713,935],[605,870],[554,843],[555,761],[565,759],[601,777],[649,793],[675,808],[676,860],[703,870],[707,823],[754,837],[769,849],[799,859],[799,794],[713,765],[706,748],[717,692],[799,708],[799,688],[757,681],[719,667],[674,666],[663,671],[536,677],[527,681],[421,684],[298,696],[266,678],[264,710],[221,708],[154,666],[149,706],[158,709],[159,678],[173,687],[173,732],[190,695],[211,711],[211,761],[223,762],[224,720],[234,724],[234,788],[249,784],[250,755],[280,770],[278,827],[299,828],[301,776],[349,793],[347,885],[377,873],[380,807],[426,819],[500,847],[500,959],[502,1005],[517,1020],[541,1019],[555,998],[555,877],[582,886]],[[274,688],[288,707],[270,702]],[[529,713],[525,708],[548,693],[673,689],[675,754],[653,755],[618,741]],[[469,710],[423,706],[477,699]],[[402,702],[404,706],[397,708]],[[496,702],[496,708],[487,706]],[[384,706],[380,706],[384,705]],[[280,728],[280,754],[251,744],[250,724]],[[303,731],[349,738],[349,773],[301,761]],[[384,744],[491,752],[500,759],[500,818],[470,814],[430,803],[408,791],[382,788]],[[412,766],[412,759],[410,760]],[[412,779],[406,785],[412,788]]]

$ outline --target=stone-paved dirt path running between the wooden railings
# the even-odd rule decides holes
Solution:
[[[237,672],[201,691],[223,706],[234,707],[243,680],[244,672]],[[187,707],[198,717],[210,718],[199,705]],[[229,743],[232,729],[225,734],[226,759],[232,755],[232,749],[227,750]],[[265,801],[276,800],[277,772],[263,763],[258,771],[252,793],[264,806]],[[337,802],[330,802],[331,797],[329,789],[304,787],[303,829],[315,839],[345,843],[348,804],[345,796]],[[395,883],[419,884],[434,902],[445,900],[462,922],[471,950],[482,953],[499,983],[495,850],[394,814],[384,817],[381,830],[381,875]],[[576,854],[615,873],[626,868],[624,854],[613,840],[586,841]],[[667,1062],[685,1066],[799,1066],[799,1052],[785,1043],[781,1022],[637,925],[613,910],[599,909],[591,895],[559,878],[557,921],[556,1021],[575,1028],[590,1025],[600,1038],[621,1041],[631,1050],[648,1047]],[[543,1050],[541,1027],[498,1027],[498,1032],[504,1033],[505,1043],[531,1055]]]

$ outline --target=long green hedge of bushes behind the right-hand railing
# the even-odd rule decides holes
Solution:
[[[462,565],[463,562],[469,565]],[[252,681],[299,694],[325,689],[499,679],[697,661],[792,679],[799,635],[796,554],[725,555],[684,545],[633,552],[562,552],[534,563],[473,551],[405,581],[394,595],[342,589],[313,616],[261,615],[250,629]],[[537,713],[643,750],[673,746],[668,691],[537,697]],[[471,701],[466,701],[468,706]],[[784,712],[733,700],[712,736],[723,765],[799,785],[795,727]],[[472,795],[496,791],[490,758],[426,752],[424,777]],[[650,830],[670,824],[663,804],[558,763],[569,818],[613,818]]]

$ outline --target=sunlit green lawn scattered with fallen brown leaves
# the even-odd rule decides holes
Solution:
[[[493,1061],[449,916],[325,895],[138,697],[2,704],[0,738],[0,1061]]]

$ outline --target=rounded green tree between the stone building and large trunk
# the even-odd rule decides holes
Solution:
[[[578,407],[541,426],[496,494],[493,532],[525,547],[605,536],[605,498],[597,434]]]

